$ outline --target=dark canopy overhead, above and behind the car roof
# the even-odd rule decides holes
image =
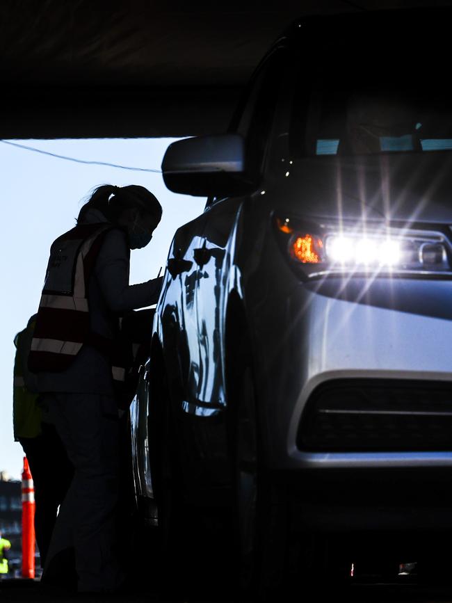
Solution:
[[[423,0],[3,0],[0,138],[223,131],[271,42],[303,15]]]

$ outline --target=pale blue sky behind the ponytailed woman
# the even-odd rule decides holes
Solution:
[[[45,151],[87,161],[159,170],[169,138],[102,140],[17,140]],[[0,312],[0,470],[20,479],[23,451],[13,440],[15,334],[38,309],[49,247],[74,226],[74,218],[99,184],[141,184],[163,207],[151,243],[131,253],[130,282],[153,278],[165,266],[177,227],[199,215],[204,198],[175,195],[161,174],[88,166],[19,149],[0,142],[2,279]]]

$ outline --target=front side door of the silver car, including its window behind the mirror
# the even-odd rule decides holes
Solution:
[[[286,49],[280,47],[261,65],[243,108],[239,109],[233,120],[232,127],[245,138],[248,166],[253,172],[253,180],[257,183],[261,180],[264,170],[268,136],[273,124],[285,57]],[[197,332],[200,340],[198,408],[195,412],[204,417],[215,414],[225,406],[222,350],[225,306],[229,294],[229,271],[234,266],[235,234],[243,202],[247,201],[245,198],[209,200],[204,212],[201,245],[194,252],[199,273]],[[256,207],[256,204],[253,204],[253,207]]]

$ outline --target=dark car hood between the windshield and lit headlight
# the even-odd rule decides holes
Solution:
[[[278,204],[296,214],[452,224],[452,153],[312,157],[279,169]]]

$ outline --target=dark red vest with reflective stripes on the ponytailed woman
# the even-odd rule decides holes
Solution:
[[[64,371],[83,344],[90,344],[111,358],[113,380],[124,380],[121,351],[115,340],[90,331],[88,307],[95,259],[112,229],[108,223],[79,224],[52,244],[29,353],[31,371]]]

